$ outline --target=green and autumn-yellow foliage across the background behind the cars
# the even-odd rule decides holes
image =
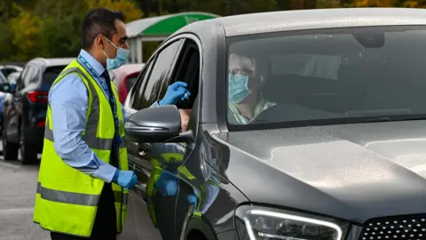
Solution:
[[[426,8],[426,0],[0,0],[3,22],[0,61],[76,56],[80,50],[79,28],[83,16],[99,6],[122,11],[126,20],[131,21],[177,12],[212,12],[226,16],[310,8]],[[140,9],[141,6],[144,8]],[[144,43],[144,60],[158,44]]]

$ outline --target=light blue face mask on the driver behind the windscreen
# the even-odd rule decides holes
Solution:
[[[229,75],[228,100],[230,103],[239,103],[250,94],[248,76]]]

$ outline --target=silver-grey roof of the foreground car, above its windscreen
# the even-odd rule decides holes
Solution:
[[[177,30],[174,35],[193,32],[213,35],[217,25],[225,36],[360,26],[426,25],[426,10],[408,8],[338,8],[259,12],[197,21]]]

